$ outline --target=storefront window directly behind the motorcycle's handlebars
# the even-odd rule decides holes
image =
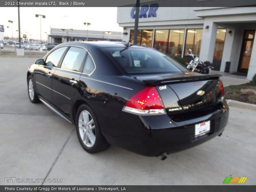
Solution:
[[[188,29],[186,37],[186,45],[184,51],[184,57],[189,53],[188,49],[191,49],[195,57],[199,57],[201,43],[202,43],[203,29]]]

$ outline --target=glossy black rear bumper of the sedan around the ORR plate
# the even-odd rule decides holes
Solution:
[[[144,156],[158,156],[194,147],[219,135],[228,123],[228,114],[228,105],[223,101],[210,114],[180,122],[170,123],[166,114],[138,116],[121,112],[116,119],[100,116],[100,122],[105,122],[100,126],[110,144]],[[209,120],[210,132],[195,138],[195,124]]]

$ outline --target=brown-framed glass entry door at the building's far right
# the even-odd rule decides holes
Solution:
[[[244,39],[241,49],[240,61],[237,71],[246,73],[248,72],[251,55],[252,55],[252,46],[255,36],[255,30],[245,30]]]

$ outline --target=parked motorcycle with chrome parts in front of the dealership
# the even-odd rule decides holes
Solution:
[[[192,57],[193,59],[188,63],[187,68],[191,71],[195,71],[202,74],[210,74],[212,72],[213,67],[210,66],[212,63],[208,60],[206,61],[199,61],[198,57],[195,57],[192,53],[191,49],[188,49],[189,53],[187,56]]]

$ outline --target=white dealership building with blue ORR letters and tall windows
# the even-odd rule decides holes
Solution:
[[[256,73],[255,7],[141,7],[137,44],[183,58],[190,48],[215,70],[226,68],[249,80]],[[127,42],[133,42],[134,13],[133,7],[117,9]]]

